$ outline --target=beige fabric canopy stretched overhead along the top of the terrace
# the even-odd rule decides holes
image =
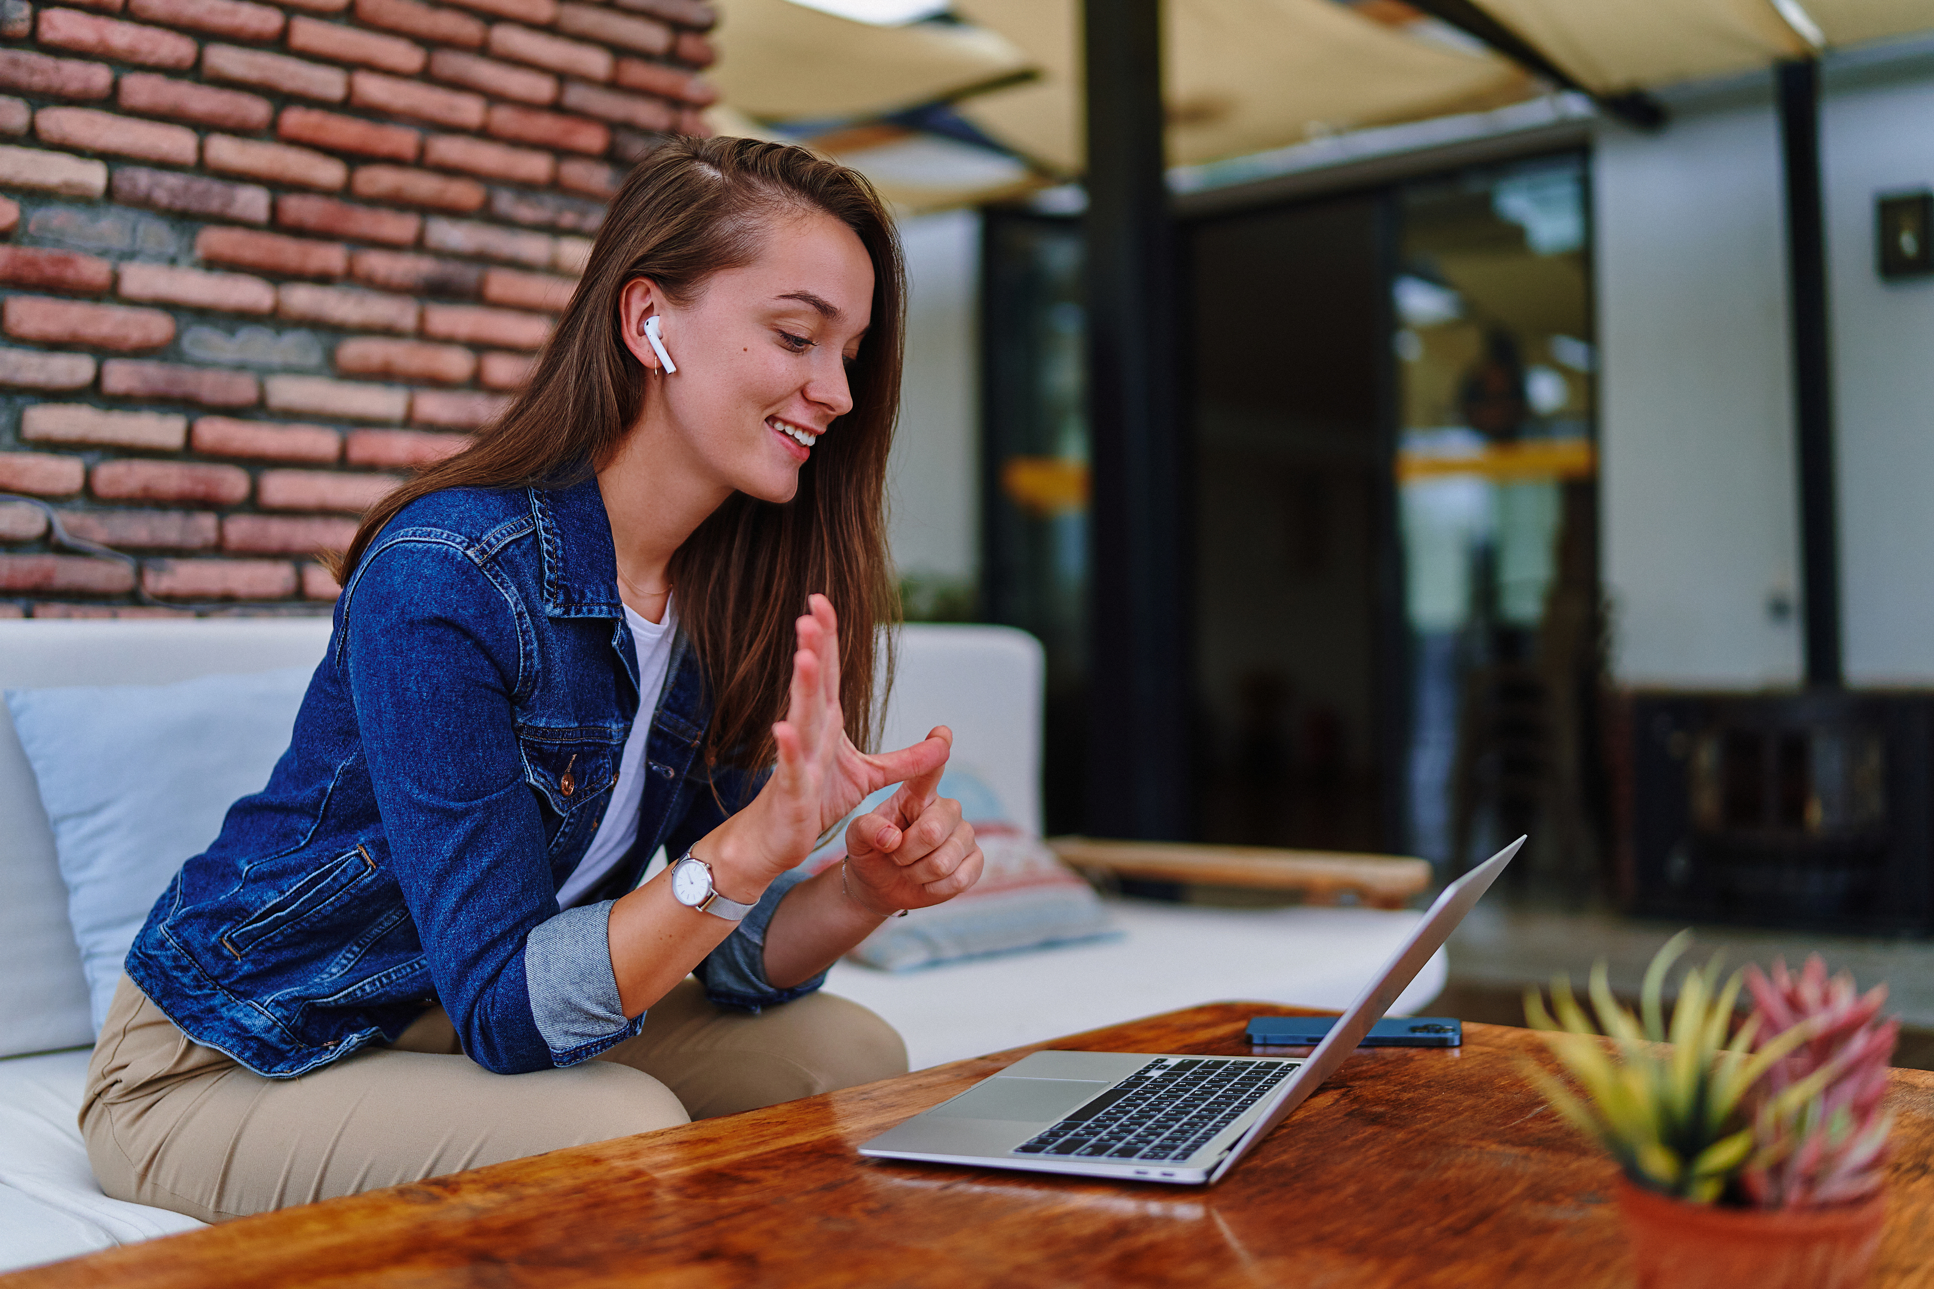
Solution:
[[[1597,93],[1746,72],[1816,43],[1934,29],[1934,0],[1476,4]],[[741,112],[864,120],[953,99],[961,116],[1042,170],[1081,170],[1079,0],[955,0],[961,23],[905,27],[791,0],[719,8],[716,79]],[[1166,0],[1164,10],[1174,164],[1501,106],[1545,89],[1400,0]]]

